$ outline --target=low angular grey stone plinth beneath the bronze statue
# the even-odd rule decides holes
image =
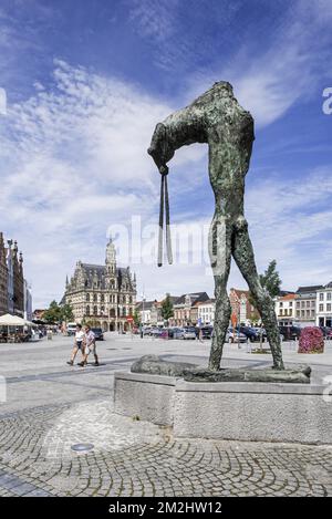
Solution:
[[[332,444],[325,386],[186,382],[115,373],[115,412],[173,427],[176,437]]]

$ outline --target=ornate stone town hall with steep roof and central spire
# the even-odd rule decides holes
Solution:
[[[90,322],[104,331],[128,330],[134,315],[136,277],[129,267],[116,267],[112,240],[106,247],[105,264],[77,261],[74,276],[66,280],[63,302],[69,303],[79,323]]]

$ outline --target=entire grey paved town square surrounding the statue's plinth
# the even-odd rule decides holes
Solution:
[[[71,338],[1,345],[0,496],[325,496],[332,447],[174,439],[165,427],[115,415],[113,375],[143,354],[207,362],[209,342],[106,334],[100,367],[65,364]],[[294,344],[286,361],[308,362]],[[332,346],[310,356],[313,383],[332,373]],[[269,365],[270,355],[226,345],[224,366]],[[93,450],[76,454],[75,443]]]

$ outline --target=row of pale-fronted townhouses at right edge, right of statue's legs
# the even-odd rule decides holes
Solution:
[[[332,326],[332,282],[299,287],[276,298],[279,324]]]

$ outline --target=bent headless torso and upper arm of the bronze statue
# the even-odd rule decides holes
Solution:
[[[230,219],[242,216],[245,177],[255,139],[253,118],[234,97],[231,86],[216,83],[163,125],[172,150],[194,142],[208,143],[216,212]]]

